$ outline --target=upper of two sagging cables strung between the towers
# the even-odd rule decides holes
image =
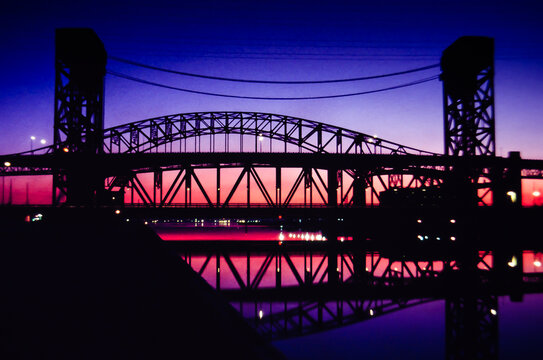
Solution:
[[[243,83],[253,83],[253,84],[283,84],[283,85],[300,85],[300,84],[331,84],[331,83],[341,83],[341,82],[352,82],[352,81],[362,81],[362,80],[372,80],[372,79],[381,79],[391,76],[398,76],[398,75],[404,75],[404,74],[411,74],[418,71],[424,71],[428,69],[433,69],[439,66],[439,64],[433,64],[428,66],[423,66],[415,69],[410,70],[404,70],[404,71],[398,71],[388,74],[380,74],[380,75],[372,75],[372,76],[363,76],[363,77],[356,77],[356,78],[348,78],[348,79],[332,79],[332,80],[308,80],[308,81],[275,81],[275,80],[254,80],[254,79],[236,79],[236,78],[227,78],[222,76],[211,76],[211,75],[202,75],[202,74],[193,74],[188,73],[184,71],[177,71],[177,70],[170,70],[161,68],[158,66],[153,65],[147,65],[142,64],[139,62],[135,62],[132,60],[127,60],[123,58],[119,58],[116,56],[109,56],[110,60],[121,62],[124,64],[139,66],[145,69],[150,70],[157,70],[162,71],[170,74],[176,74],[176,75],[183,75],[183,76],[191,76],[191,77],[197,77],[201,79],[210,79],[210,80],[221,80],[221,81],[231,81],[231,82],[243,82]]]

